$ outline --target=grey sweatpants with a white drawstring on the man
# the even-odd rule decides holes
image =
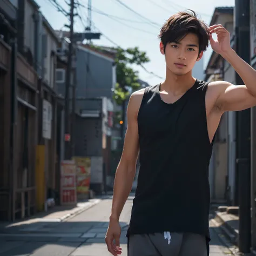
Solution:
[[[128,256],[206,256],[206,238],[192,233],[133,234]]]

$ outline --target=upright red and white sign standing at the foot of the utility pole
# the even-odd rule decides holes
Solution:
[[[76,163],[64,160],[60,164],[60,202],[61,205],[77,204]]]

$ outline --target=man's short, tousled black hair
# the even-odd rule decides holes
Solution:
[[[194,33],[199,39],[199,53],[205,51],[209,44],[210,32],[207,25],[192,10],[180,11],[172,15],[162,26],[159,38],[164,45],[181,41],[188,33]]]

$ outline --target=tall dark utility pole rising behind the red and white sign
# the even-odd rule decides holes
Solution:
[[[73,25],[74,25],[75,0],[70,0],[70,44],[68,52],[68,65],[66,69],[65,84],[65,159],[71,159],[71,142],[70,142],[70,77],[72,72],[73,56]]]

